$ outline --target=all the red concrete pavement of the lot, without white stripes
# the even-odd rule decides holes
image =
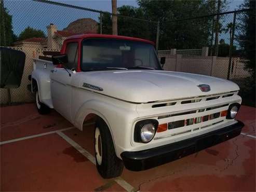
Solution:
[[[241,106],[237,118],[246,124],[243,132],[255,134],[255,108]],[[1,108],[1,141],[70,126],[54,111],[38,115],[32,104]],[[93,125],[64,134],[94,154]],[[93,163],[55,133],[0,149],[1,191],[124,190],[103,180]],[[150,170],[124,169],[122,178],[140,191],[255,191],[255,139],[240,135]]]

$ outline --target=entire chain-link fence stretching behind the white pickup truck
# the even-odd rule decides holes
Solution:
[[[105,11],[45,0],[1,0],[1,28],[3,24],[5,28],[10,25],[9,32],[3,34],[1,31],[1,46],[26,53],[21,87],[11,89],[10,98],[8,91],[1,89],[1,104],[8,100],[33,101],[33,95],[26,88],[30,84],[28,75],[33,70],[32,58],[43,56],[44,51],[59,51],[63,40],[71,35],[112,34],[112,17],[115,16],[118,35],[156,43],[158,56],[167,57],[165,70],[231,79],[244,86],[244,80],[252,75],[242,45],[242,38],[247,35],[243,24],[247,24],[248,11],[159,22],[146,20],[143,16],[113,16]]]

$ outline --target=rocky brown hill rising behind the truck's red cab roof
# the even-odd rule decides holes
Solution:
[[[97,21],[84,18],[71,22],[63,31],[72,33],[98,33],[99,24]]]

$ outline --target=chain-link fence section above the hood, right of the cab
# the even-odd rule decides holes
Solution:
[[[167,57],[166,70],[234,81],[244,103],[255,106],[255,72],[248,67],[253,59],[246,55],[247,42],[253,42],[253,37],[255,42],[255,30],[249,37],[249,22],[255,28],[255,9],[163,22],[158,56]],[[255,62],[255,47],[250,53]]]

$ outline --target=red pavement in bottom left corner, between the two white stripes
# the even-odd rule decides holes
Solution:
[[[95,191],[104,186],[96,166],[58,134],[1,146],[1,191]]]

